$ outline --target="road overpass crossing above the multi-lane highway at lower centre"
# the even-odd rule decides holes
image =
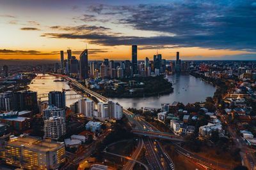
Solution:
[[[180,136],[177,136],[175,134],[169,134],[166,132],[157,132],[157,131],[147,131],[143,129],[132,129],[132,132],[134,134],[139,134],[143,136],[150,136],[154,138],[162,138],[162,139],[169,139],[172,141],[183,141],[184,139]]]

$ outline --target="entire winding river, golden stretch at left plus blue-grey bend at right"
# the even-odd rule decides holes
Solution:
[[[38,74],[42,76],[43,74]],[[69,96],[70,94],[77,94],[74,90],[70,89],[69,85],[65,81],[54,81],[60,80],[49,74],[44,74],[43,78],[35,78],[29,85],[29,89],[38,94],[48,94],[49,92],[56,90],[61,91],[62,89],[70,90],[66,94],[66,105],[69,107],[70,104],[76,102],[81,96]],[[209,83],[205,83],[200,78],[195,78],[191,75],[166,75],[168,81],[173,83],[173,93],[159,96],[159,97],[145,97],[142,98],[109,98],[113,101],[120,103],[124,108],[160,108],[161,103],[173,103],[173,101],[179,101],[184,104],[195,103],[205,101],[206,97],[213,96],[216,91],[216,87],[213,87]],[[47,100],[47,98],[45,99]]]

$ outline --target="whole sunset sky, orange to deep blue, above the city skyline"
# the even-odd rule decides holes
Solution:
[[[0,0],[0,30],[0,59],[256,60],[255,0]]]

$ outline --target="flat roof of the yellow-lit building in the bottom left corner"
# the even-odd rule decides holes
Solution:
[[[63,146],[62,143],[46,142],[42,141],[42,139],[32,136],[20,136],[13,141],[8,141],[6,145],[15,146],[17,148],[20,148],[21,145],[24,145],[25,148],[28,148],[29,150],[33,150],[35,152],[52,152],[58,150],[59,148],[61,148],[61,146]]]

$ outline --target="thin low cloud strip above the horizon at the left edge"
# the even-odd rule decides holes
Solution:
[[[0,49],[0,55],[55,55],[57,52],[51,53],[42,53],[36,50],[7,50],[7,49]]]

